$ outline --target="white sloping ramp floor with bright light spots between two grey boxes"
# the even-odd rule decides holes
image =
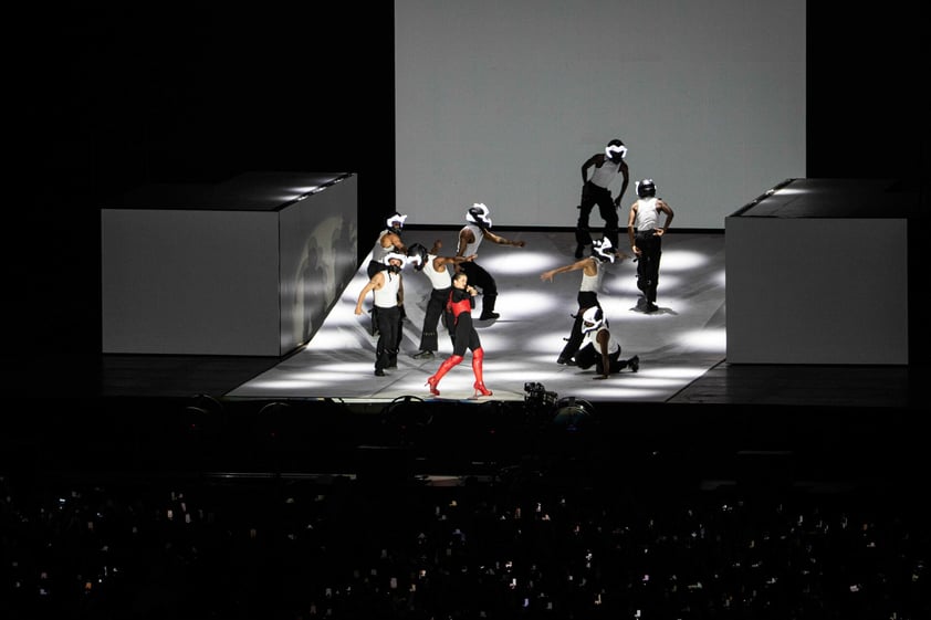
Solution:
[[[640,358],[638,372],[624,370],[595,380],[595,370],[559,366],[556,358],[572,328],[580,271],[543,282],[546,270],[575,262],[572,232],[499,231],[524,240],[524,248],[485,242],[478,263],[498,282],[493,322],[475,320],[484,358],[484,382],[494,393],[487,400],[523,400],[526,385],[540,383],[558,398],[589,402],[663,402],[722,362],[725,357],[724,234],[676,233],[663,238],[657,305],[645,314],[636,308],[636,263],[630,259],[607,265],[598,294],[611,333],[619,338],[623,358]],[[456,252],[457,231],[405,231],[405,242],[430,248],[443,243],[441,254]],[[333,398],[345,401],[391,401],[400,397],[467,400],[474,381],[470,354],[452,368],[432,397],[425,385],[443,358],[452,353],[449,335],[439,326],[435,359],[418,360],[420,328],[429,298],[427,276],[408,266],[404,271],[404,341],[398,367],[375,377],[376,337],[369,314],[356,316],[356,300],[368,277],[364,261],[353,282],[334,305],[312,340],[281,364],[227,393],[231,398]],[[372,308],[372,295],[364,304]],[[481,314],[479,300],[473,317]]]

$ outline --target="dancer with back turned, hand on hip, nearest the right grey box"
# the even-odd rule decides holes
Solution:
[[[657,198],[656,183],[652,179],[637,181],[638,200],[630,206],[627,217],[627,237],[630,249],[637,255],[637,288],[644,294],[637,301],[637,308],[656,312],[656,290],[659,283],[659,259],[662,255],[662,235],[672,223],[672,209]],[[666,222],[660,227],[659,214],[666,213]]]

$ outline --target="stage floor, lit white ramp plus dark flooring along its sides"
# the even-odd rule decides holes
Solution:
[[[412,230],[409,243],[443,242],[453,248],[453,230]],[[623,357],[637,355],[637,374],[623,371],[606,381],[593,370],[559,366],[556,358],[572,327],[580,272],[542,282],[540,274],[575,259],[571,231],[508,231],[526,242],[523,249],[482,246],[481,264],[500,288],[495,322],[478,323],[485,348],[484,378],[492,397],[472,399],[467,358],[440,383],[440,397],[425,385],[451,351],[440,326],[440,350],[432,360],[417,360],[428,281],[404,272],[407,320],[398,368],[374,376],[375,343],[370,334],[370,295],[366,314],[353,312],[367,277],[363,264],[311,340],[290,355],[102,355],[92,360],[65,359],[56,372],[54,356],[11,359],[6,378],[21,393],[36,397],[188,398],[206,393],[226,401],[338,399],[359,410],[380,409],[397,398],[480,403],[523,399],[526,383],[543,385],[561,398],[593,403],[681,403],[745,406],[817,406],[903,408],[914,404],[927,368],[875,365],[734,365],[725,359],[724,233],[677,232],[665,238],[660,266],[659,311],[635,309],[636,263],[610,264],[599,300]],[[454,250],[449,250],[450,253]],[[479,303],[474,316],[481,312]],[[98,365],[96,381],[75,385]],[[41,385],[56,372],[60,380]],[[76,382],[76,379],[75,379]],[[8,390],[9,391],[9,390]]]

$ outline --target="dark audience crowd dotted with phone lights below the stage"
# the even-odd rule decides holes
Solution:
[[[931,618],[898,494],[128,477],[0,481],[0,618]]]

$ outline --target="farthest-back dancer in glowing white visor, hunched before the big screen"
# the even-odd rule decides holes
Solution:
[[[580,259],[585,246],[592,244],[592,232],[588,228],[588,218],[592,208],[597,204],[602,219],[605,220],[605,233],[611,242],[611,248],[618,246],[618,216],[617,209],[624,192],[627,191],[627,183],[630,180],[630,170],[627,167],[627,147],[619,139],[614,139],[605,147],[605,153],[596,153],[582,165],[582,202],[578,204],[578,222],[575,227],[575,258]],[[588,178],[588,169],[595,167],[592,178]],[[624,181],[620,186],[620,193],[611,200],[610,185],[621,175]]]

